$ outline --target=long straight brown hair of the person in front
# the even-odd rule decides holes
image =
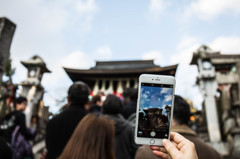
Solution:
[[[114,122],[100,114],[88,114],[76,127],[59,159],[114,159]]]

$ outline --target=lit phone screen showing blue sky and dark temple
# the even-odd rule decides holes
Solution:
[[[138,137],[168,138],[173,85],[141,83]]]

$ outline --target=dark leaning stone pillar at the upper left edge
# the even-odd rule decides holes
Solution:
[[[7,18],[0,18],[0,85],[6,62],[10,56],[10,47],[16,25]]]

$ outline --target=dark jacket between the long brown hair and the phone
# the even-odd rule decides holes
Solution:
[[[133,159],[138,149],[134,142],[133,127],[120,114],[108,116],[115,122],[114,151],[116,159]]]

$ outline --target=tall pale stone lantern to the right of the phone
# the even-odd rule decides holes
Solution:
[[[218,83],[216,80],[216,65],[212,57],[219,52],[212,51],[208,46],[202,45],[193,53],[191,65],[198,66],[197,84],[204,98],[204,108],[207,119],[207,128],[210,144],[222,155],[229,153],[228,146],[222,141],[218,109],[216,103]]]

